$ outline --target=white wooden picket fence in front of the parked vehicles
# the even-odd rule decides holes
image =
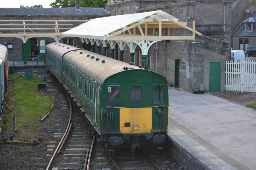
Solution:
[[[256,92],[256,60],[226,62],[225,90],[234,92]]]

